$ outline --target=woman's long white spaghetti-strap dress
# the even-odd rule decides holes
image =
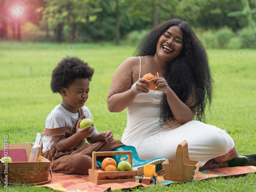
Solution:
[[[226,130],[216,126],[193,120],[183,125],[175,121],[161,127],[162,94],[152,90],[138,94],[127,106],[122,143],[135,146],[141,159],[175,159],[177,146],[184,140],[188,144],[189,159],[201,161],[201,166],[232,150],[234,141]]]

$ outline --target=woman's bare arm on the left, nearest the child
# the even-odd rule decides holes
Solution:
[[[147,80],[139,79],[139,75],[137,76],[139,81],[136,83],[136,86],[130,89],[133,83],[134,70],[139,69],[138,63],[138,57],[130,57],[117,68],[107,98],[110,112],[121,112],[134,100],[136,95],[148,93],[149,87],[142,83]]]

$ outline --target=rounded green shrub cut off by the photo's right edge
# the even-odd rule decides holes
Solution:
[[[255,49],[256,48],[256,30],[251,28],[244,28],[238,32],[242,48]]]

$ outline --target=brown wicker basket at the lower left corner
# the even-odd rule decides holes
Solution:
[[[24,143],[25,144],[25,143]],[[51,161],[40,156],[39,162],[9,162],[1,160],[1,182],[8,184],[41,185],[52,179]],[[51,178],[49,178],[49,173]]]

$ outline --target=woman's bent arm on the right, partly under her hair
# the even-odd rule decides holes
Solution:
[[[156,87],[166,94],[169,107],[179,123],[185,124],[195,117],[197,108],[192,108],[196,104],[195,84],[192,85],[192,93],[189,94],[187,100],[182,102],[174,91],[170,89],[164,78],[158,77],[150,81],[155,82]]]

